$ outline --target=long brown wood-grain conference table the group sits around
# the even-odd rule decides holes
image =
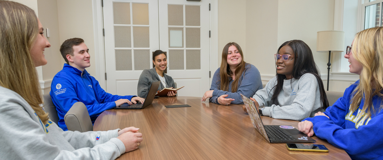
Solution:
[[[166,108],[188,104],[191,107]],[[298,121],[261,116],[265,125],[292,125]],[[160,97],[139,110],[104,111],[93,130],[140,128],[144,140],[137,150],[118,159],[350,159],[337,147],[315,136],[315,144],[325,145],[328,153],[289,151],[285,143],[268,143],[253,127],[242,105],[201,102],[200,97]]]

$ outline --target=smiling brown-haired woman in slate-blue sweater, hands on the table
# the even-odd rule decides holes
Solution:
[[[242,57],[242,49],[235,42],[223,48],[221,67],[214,73],[210,91],[205,92],[201,101],[210,98],[216,104],[243,104],[241,93],[251,97],[262,89],[258,69]]]

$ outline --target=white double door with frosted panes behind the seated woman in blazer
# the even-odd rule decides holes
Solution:
[[[201,97],[209,82],[209,2],[103,0],[106,90],[137,95],[152,53],[167,53],[167,75],[185,86],[178,96]],[[214,73],[214,71],[213,71]]]

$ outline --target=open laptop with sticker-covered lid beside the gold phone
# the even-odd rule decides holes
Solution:
[[[291,125],[263,125],[253,101],[241,94],[254,128],[270,143],[316,142]]]

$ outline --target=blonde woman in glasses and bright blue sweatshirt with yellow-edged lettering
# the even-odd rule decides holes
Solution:
[[[298,129],[326,139],[352,159],[383,159],[383,27],[357,33],[344,57],[360,79],[324,113],[299,122]]]

